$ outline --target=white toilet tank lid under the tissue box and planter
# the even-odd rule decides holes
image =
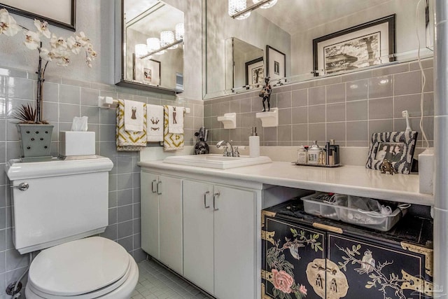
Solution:
[[[14,181],[48,176],[109,172],[112,167],[111,159],[97,155],[97,158],[93,159],[58,160],[55,158],[43,162],[21,162],[19,159],[12,159],[6,163],[5,172],[10,181]]]

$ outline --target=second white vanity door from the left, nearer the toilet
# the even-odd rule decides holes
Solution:
[[[160,261],[183,274],[182,180],[159,176]]]

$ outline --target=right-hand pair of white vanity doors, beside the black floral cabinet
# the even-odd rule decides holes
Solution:
[[[183,180],[183,275],[220,299],[255,298],[256,193]]]

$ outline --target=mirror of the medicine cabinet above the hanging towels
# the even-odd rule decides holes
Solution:
[[[116,51],[116,84],[165,94],[183,92],[183,12],[159,0],[117,2],[123,46]]]

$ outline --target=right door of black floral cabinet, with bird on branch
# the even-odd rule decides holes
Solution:
[[[349,281],[346,297],[433,298],[432,272],[425,267],[427,256],[409,251],[405,243],[402,246],[405,248],[329,233],[329,259]]]

